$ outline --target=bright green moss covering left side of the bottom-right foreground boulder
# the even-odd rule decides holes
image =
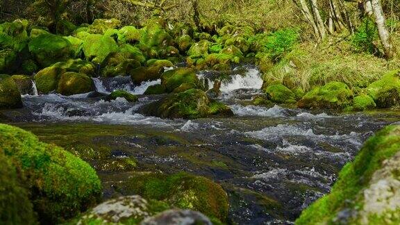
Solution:
[[[344,166],[339,174],[338,181],[333,185],[331,193],[304,210],[296,224],[335,224],[333,219],[341,210],[345,208],[361,210],[360,201],[364,198],[362,190],[368,185],[372,174],[381,169],[384,166],[383,162],[392,158],[395,153],[399,152],[399,149],[399,126],[387,126],[376,133],[374,137],[369,138],[353,162]],[[357,215],[355,216],[356,218],[350,218],[352,219],[350,223],[365,223]],[[371,214],[368,216],[376,217]],[[386,219],[391,220],[390,217],[386,217]],[[381,224],[381,222],[378,224]]]

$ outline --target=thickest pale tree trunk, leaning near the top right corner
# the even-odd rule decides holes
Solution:
[[[390,34],[389,31],[387,31],[385,24],[385,15],[383,14],[381,1],[371,0],[371,3],[372,11],[375,16],[376,28],[378,28],[379,38],[381,39],[383,51],[385,52],[385,58],[390,59],[393,57],[393,44],[392,40],[390,40]]]

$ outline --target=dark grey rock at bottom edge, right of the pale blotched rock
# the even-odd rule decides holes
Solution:
[[[149,217],[147,219],[144,219],[144,221],[142,221],[140,224],[141,225],[156,225],[156,224],[212,225],[213,223],[210,222],[210,219],[208,219],[205,215],[192,210],[167,210],[154,217]]]

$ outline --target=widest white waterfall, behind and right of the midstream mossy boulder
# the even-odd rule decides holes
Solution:
[[[260,71],[256,68],[249,68],[244,76],[236,74],[232,81],[222,81],[221,91],[231,92],[238,89],[260,89],[263,85]]]

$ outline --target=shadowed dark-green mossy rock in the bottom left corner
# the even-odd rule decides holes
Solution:
[[[3,151],[0,151],[0,165],[0,224],[35,224],[37,219],[28,191]]]

